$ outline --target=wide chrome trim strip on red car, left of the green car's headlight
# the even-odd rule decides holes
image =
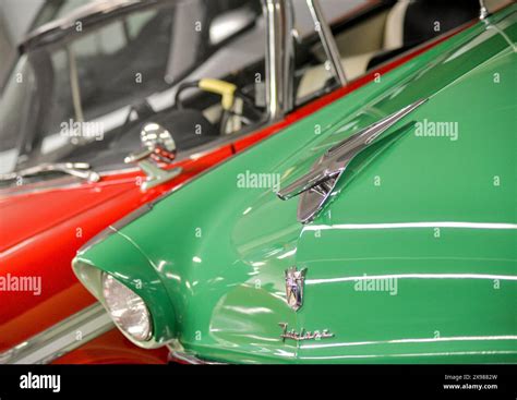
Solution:
[[[0,353],[0,364],[48,364],[112,328],[103,305],[95,303]]]

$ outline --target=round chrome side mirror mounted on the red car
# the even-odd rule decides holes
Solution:
[[[140,140],[146,148],[142,153],[125,157],[125,163],[137,163],[147,175],[142,183],[142,191],[170,181],[181,173],[181,168],[167,169],[178,153],[172,135],[157,123],[147,123],[140,133]]]

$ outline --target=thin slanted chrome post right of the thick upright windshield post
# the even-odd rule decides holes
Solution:
[[[330,27],[323,15],[320,0],[306,0],[306,5],[311,11],[314,26],[317,34],[320,35],[320,39],[322,40],[325,54],[328,58],[328,62],[330,63],[330,68],[334,73],[334,77],[340,86],[345,86],[347,84],[347,76],[345,75],[345,69],[341,64],[341,57],[339,54],[336,40],[334,40]]]

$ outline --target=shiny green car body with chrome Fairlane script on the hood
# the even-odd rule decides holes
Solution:
[[[145,301],[153,338],[137,344],[204,361],[517,362],[516,38],[514,4],[131,216],[75,272],[100,301],[101,271]],[[284,187],[420,98],[313,221],[255,187]],[[306,268],[298,311],[293,266]],[[329,335],[281,338],[279,324]]]

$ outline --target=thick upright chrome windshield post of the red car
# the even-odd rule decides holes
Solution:
[[[294,104],[294,39],[291,0],[262,0],[266,21],[266,107],[270,120]]]

